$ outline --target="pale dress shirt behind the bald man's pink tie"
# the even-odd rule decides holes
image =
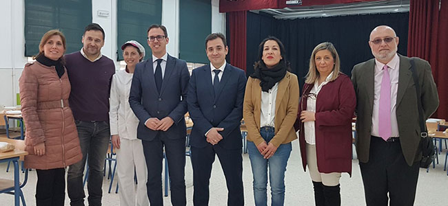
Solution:
[[[381,91],[381,81],[383,80],[384,67],[385,64],[375,60],[375,83],[374,83],[374,111],[371,113],[371,135],[380,137],[379,133],[379,108],[380,108],[380,91]],[[389,66],[389,76],[391,80],[391,137],[400,137],[398,133],[398,122],[396,116],[396,103],[397,103],[397,92],[398,92],[398,76],[400,71],[400,58],[395,54],[394,58],[387,63]]]

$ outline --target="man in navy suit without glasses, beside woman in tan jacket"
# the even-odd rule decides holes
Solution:
[[[208,205],[209,183],[215,154],[227,182],[227,205],[244,205],[243,158],[240,122],[246,76],[225,62],[225,36],[214,33],[205,39],[210,65],[193,70],[188,87],[188,112],[194,126],[190,135],[194,205]]]

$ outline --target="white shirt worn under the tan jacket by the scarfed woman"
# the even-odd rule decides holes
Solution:
[[[274,126],[275,101],[277,99],[278,82],[266,91],[261,91],[260,127]]]

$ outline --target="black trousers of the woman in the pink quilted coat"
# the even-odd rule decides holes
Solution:
[[[65,168],[36,170],[36,205],[64,205]]]

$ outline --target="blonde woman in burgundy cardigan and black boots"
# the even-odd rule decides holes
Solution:
[[[317,45],[296,120],[303,169],[308,165],[317,206],[340,205],[341,172],[352,173],[352,116],[356,96],[352,81],[340,72],[332,43]]]

